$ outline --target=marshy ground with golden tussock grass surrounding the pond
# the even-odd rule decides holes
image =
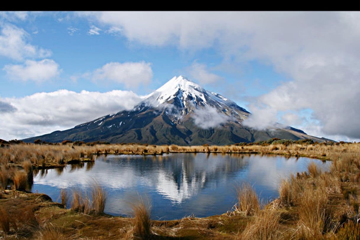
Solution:
[[[106,193],[95,181],[91,192],[68,191],[59,203],[26,191],[33,169],[93,161],[96,154],[169,152],[281,154],[332,160],[332,165],[329,172],[321,172],[310,164],[308,172],[283,180],[279,198],[265,206],[260,207],[251,186],[243,185],[233,212],[173,221],[150,220],[148,206],[141,200],[134,203],[133,218],[104,214]],[[6,239],[360,239],[360,143],[269,140],[230,146],[155,146],[3,141],[0,189],[0,237]],[[68,200],[71,209],[64,208]]]

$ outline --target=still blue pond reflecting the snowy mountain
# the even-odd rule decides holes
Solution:
[[[101,155],[95,162],[37,172],[32,191],[56,201],[61,189],[90,191],[96,180],[108,193],[105,213],[129,216],[131,201],[141,195],[151,201],[152,219],[206,217],[231,210],[235,188],[243,182],[249,182],[264,201],[278,197],[280,180],[307,171],[312,161],[325,171],[330,166],[330,162],[277,155]]]

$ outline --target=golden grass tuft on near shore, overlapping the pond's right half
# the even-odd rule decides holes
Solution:
[[[236,189],[238,204],[236,205],[236,212],[242,213],[245,216],[250,216],[260,210],[260,204],[257,199],[255,190],[248,183],[243,183],[241,187]]]

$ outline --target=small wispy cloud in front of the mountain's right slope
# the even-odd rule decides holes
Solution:
[[[204,129],[218,127],[230,120],[229,116],[217,112],[214,107],[198,108],[194,110],[192,118],[198,127]]]

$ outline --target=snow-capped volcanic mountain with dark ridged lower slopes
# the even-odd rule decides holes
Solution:
[[[233,101],[203,89],[183,76],[174,77],[131,110],[109,114],[74,128],[24,139],[33,142],[107,141],[147,144],[233,144],[280,139],[326,139],[292,127],[256,130],[243,126],[250,113]]]

